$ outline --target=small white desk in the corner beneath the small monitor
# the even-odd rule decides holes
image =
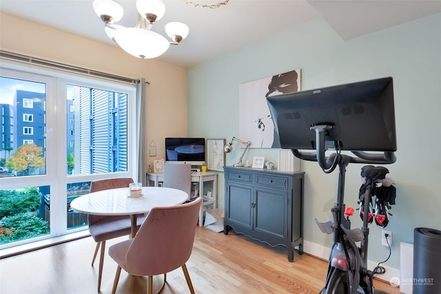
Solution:
[[[154,185],[159,187],[160,183],[164,181],[163,173],[147,173],[147,185]],[[207,171],[205,173],[192,173],[192,182],[196,183],[198,188],[196,189],[196,195],[203,197],[201,209],[199,209],[199,227],[203,226],[203,207],[208,204],[213,204],[213,208],[217,208],[217,190],[218,190],[218,174],[213,171]],[[212,196],[204,195],[204,183],[213,182]]]

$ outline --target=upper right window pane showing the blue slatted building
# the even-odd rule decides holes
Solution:
[[[127,94],[77,85],[68,85],[68,93],[67,105],[79,122],[72,129],[71,136],[79,136],[68,173],[127,171]]]

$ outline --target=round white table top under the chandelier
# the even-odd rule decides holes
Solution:
[[[127,216],[147,213],[153,207],[181,204],[188,198],[184,191],[164,187],[143,187],[143,196],[128,195],[128,187],[88,193],[75,198],[70,202],[70,207],[82,213],[99,216]]]

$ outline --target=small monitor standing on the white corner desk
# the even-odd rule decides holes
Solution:
[[[205,163],[205,138],[165,138],[165,161],[202,165]]]

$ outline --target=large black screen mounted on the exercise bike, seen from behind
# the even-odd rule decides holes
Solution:
[[[396,151],[391,77],[270,96],[280,146],[316,149],[314,125],[330,125],[327,149]]]

